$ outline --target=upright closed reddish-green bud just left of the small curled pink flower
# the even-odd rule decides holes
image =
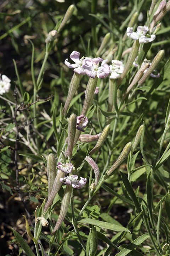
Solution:
[[[74,146],[74,137],[77,126],[77,116],[76,114],[71,114],[68,122],[68,146],[65,153],[65,156],[72,156],[73,146]]]

